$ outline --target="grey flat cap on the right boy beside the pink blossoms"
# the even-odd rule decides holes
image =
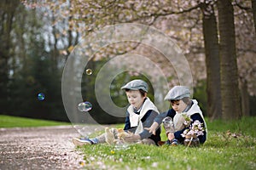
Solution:
[[[185,86],[174,86],[168,94],[166,94],[165,100],[168,99],[183,99],[185,97],[190,97],[189,88]]]

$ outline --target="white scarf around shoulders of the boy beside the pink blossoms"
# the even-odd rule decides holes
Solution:
[[[205,130],[206,130],[206,132],[207,132],[207,123],[206,123],[206,121],[205,121],[205,119],[204,119],[204,116],[202,115],[202,112],[201,112],[201,109],[200,109],[200,107],[197,105],[198,104],[198,102],[196,101],[196,99],[192,99],[192,101],[193,101],[193,105],[191,106],[191,108],[189,109],[189,111],[186,111],[186,112],[183,112],[183,113],[177,113],[176,112],[176,115],[173,117],[173,123],[174,123],[174,126],[175,125],[177,125],[177,121],[179,120],[179,117],[180,116],[183,116],[183,115],[185,115],[185,116],[192,116],[192,115],[194,115],[195,113],[199,113],[200,114],[200,116],[201,116],[201,118],[203,119],[203,121],[204,121],[204,124],[205,124]]]

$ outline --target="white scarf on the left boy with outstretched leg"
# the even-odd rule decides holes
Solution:
[[[137,115],[133,111],[133,106],[132,105],[130,105],[128,107],[127,111],[129,112],[129,119],[130,119],[131,127],[137,127],[137,129],[135,131],[135,134],[143,132],[144,127],[143,127],[142,118],[143,118],[143,116],[145,116],[145,114],[149,110],[156,111],[159,114],[159,111],[158,111],[157,107],[154,105],[154,103],[148,97],[144,101],[139,115]]]

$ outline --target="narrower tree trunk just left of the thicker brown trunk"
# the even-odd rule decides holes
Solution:
[[[203,4],[203,35],[207,64],[207,114],[221,118],[220,65],[216,16],[212,5]]]

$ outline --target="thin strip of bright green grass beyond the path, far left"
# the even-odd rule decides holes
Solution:
[[[19,116],[0,115],[0,127],[44,127],[70,125],[67,122],[44,121],[38,119],[30,119]]]

